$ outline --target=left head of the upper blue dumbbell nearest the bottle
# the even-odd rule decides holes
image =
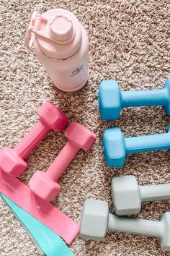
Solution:
[[[99,85],[99,111],[104,120],[120,116],[121,91],[115,80],[104,80]]]

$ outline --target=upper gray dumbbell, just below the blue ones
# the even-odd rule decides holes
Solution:
[[[137,214],[141,202],[170,199],[170,183],[138,186],[135,176],[112,179],[112,200],[117,215]]]

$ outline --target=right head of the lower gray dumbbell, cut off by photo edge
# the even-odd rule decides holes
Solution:
[[[162,223],[162,236],[161,236],[161,248],[170,251],[170,213],[164,213],[161,216]]]

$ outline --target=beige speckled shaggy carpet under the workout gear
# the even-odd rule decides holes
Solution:
[[[114,212],[110,196],[113,176],[135,174],[140,184],[169,182],[168,150],[128,155],[123,168],[111,169],[104,162],[101,140],[104,129],[112,126],[120,127],[126,136],[166,132],[170,119],[164,109],[129,108],[122,111],[118,121],[104,122],[97,103],[97,90],[103,79],[117,80],[124,90],[162,88],[170,70],[169,0],[0,2],[0,147],[14,146],[30,131],[38,119],[37,108],[45,101],[52,101],[71,120],[96,132],[94,148],[81,151],[61,177],[63,190],[54,202],[77,222],[84,200],[89,197],[107,200]],[[24,48],[30,14],[57,7],[76,14],[89,32],[89,82],[77,93],[56,89],[34,53]],[[27,159],[29,168],[21,177],[22,182],[27,184],[36,170],[48,168],[65,142],[63,135],[52,132]],[[0,202],[0,255],[38,255],[24,229]],[[167,210],[169,200],[143,203],[138,217],[158,220]],[[107,234],[104,242],[86,242],[78,237],[71,249],[79,256],[170,255],[161,251],[158,239],[118,233]]]

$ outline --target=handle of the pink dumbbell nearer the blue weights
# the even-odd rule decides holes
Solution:
[[[79,150],[80,148],[78,146],[71,142],[67,142],[61,152],[55,158],[55,161],[53,161],[53,163],[46,171],[50,179],[53,179],[53,181],[57,182],[61,174],[63,174]]]

